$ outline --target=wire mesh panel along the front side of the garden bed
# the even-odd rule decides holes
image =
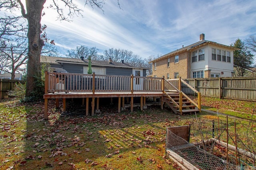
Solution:
[[[221,158],[210,154],[188,143],[167,129],[166,149],[169,149],[200,170],[236,170],[240,169],[233,164],[223,161]]]

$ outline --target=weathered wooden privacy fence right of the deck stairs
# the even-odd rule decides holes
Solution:
[[[201,96],[256,102],[256,77],[189,78],[182,81],[198,90]],[[184,83],[181,86],[182,92],[194,95]]]

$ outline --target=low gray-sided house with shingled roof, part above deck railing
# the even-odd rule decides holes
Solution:
[[[87,59],[41,56],[40,63],[50,64],[51,71],[87,74]],[[131,66],[128,63],[92,60],[92,72],[100,75],[146,76],[148,68]]]

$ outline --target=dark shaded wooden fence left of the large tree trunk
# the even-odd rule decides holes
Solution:
[[[25,83],[22,80],[0,79],[0,99],[8,98],[8,90],[13,90],[15,83]]]

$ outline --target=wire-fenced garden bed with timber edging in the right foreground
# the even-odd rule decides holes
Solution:
[[[189,143],[189,139],[185,140],[184,134],[178,136],[167,128],[166,153],[189,170],[256,170],[256,134],[253,133],[255,129],[248,128],[244,134],[236,136],[234,128],[230,131],[228,129],[231,124],[233,128],[236,122],[233,124],[219,119],[201,121],[196,118],[190,122],[188,133],[194,143]],[[244,143],[242,138],[248,143]],[[234,142],[235,146],[221,139],[227,143]],[[236,142],[239,142],[239,147],[246,150],[239,149]]]

